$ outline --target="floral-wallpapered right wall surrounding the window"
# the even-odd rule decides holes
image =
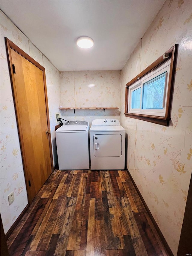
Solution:
[[[166,1],[125,64],[121,76],[127,167],[152,215],[177,254],[192,170],[191,1]],[[125,84],[179,44],[169,127],[124,116]]]

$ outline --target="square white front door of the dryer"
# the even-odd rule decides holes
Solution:
[[[93,137],[95,157],[118,157],[122,155],[121,134],[95,134]]]

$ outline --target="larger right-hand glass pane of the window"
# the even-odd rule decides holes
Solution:
[[[163,108],[166,73],[143,84],[143,109]]]

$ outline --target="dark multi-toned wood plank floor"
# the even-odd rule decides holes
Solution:
[[[168,255],[125,170],[55,170],[7,245],[10,256]]]

